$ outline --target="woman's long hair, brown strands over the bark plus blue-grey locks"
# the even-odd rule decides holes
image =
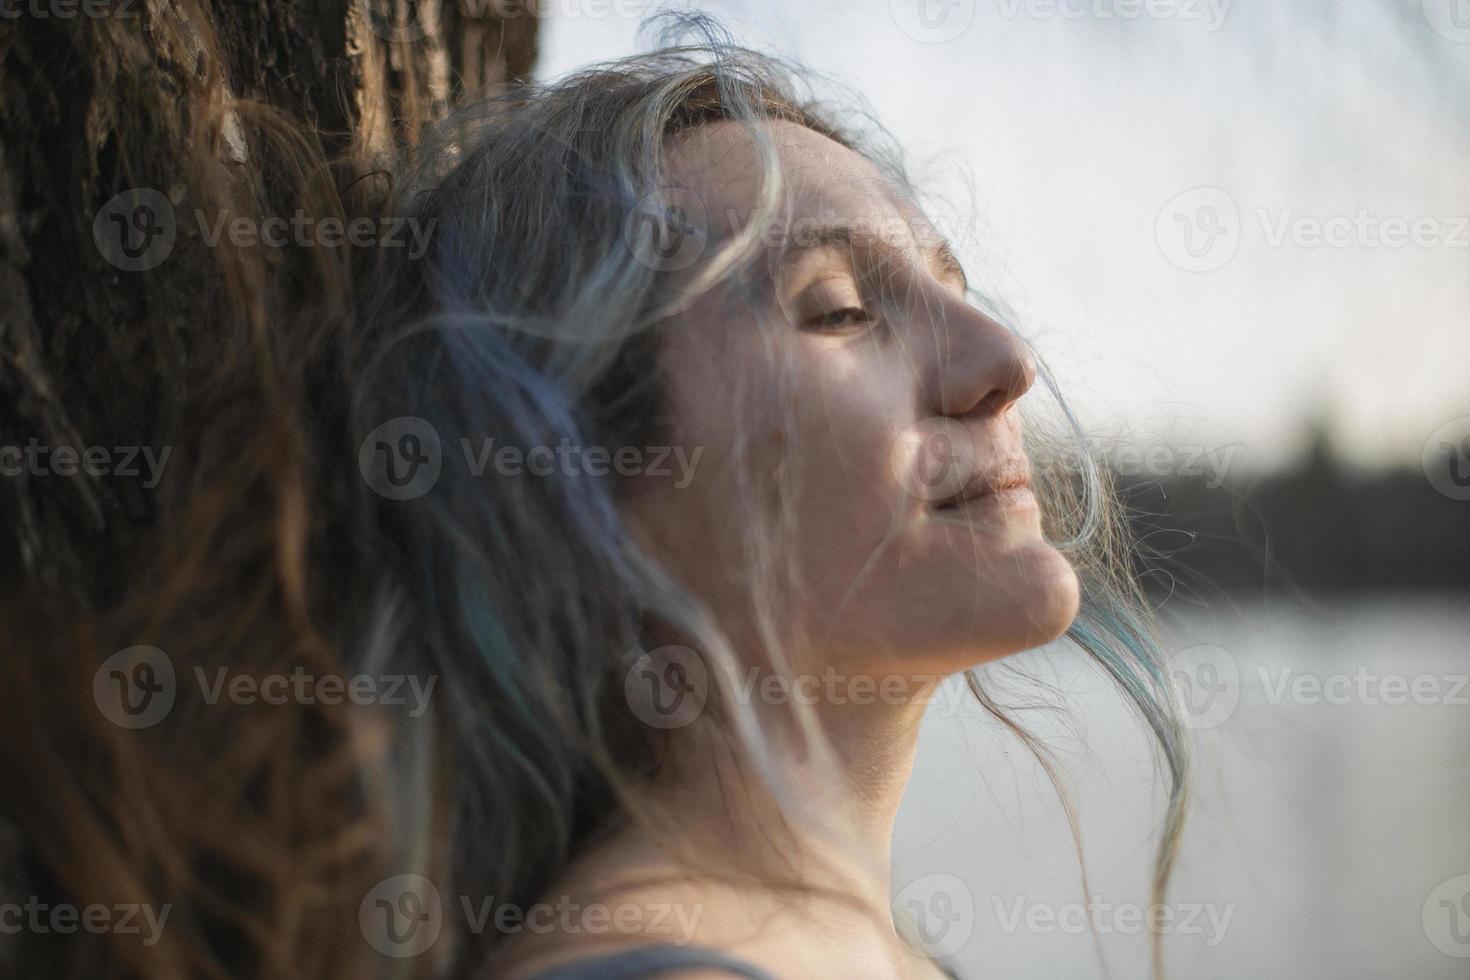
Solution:
[[[678,837],[676,814],[645,792],[676,736],[645,724],[626,693],[629,670],[660,636],[709,664],[732,758],[794,821],[825,826],[735,696],[731,638],[629,527],[626,482],[557,467],[501,479],[472,464],[506,447],[667,442],[662,332],[698,297],[742,282],[760,253],[754,229],[781,206],[764,123],[807,126],[904,181],[897,154],[845,129],[800,69],[695,26],[694,44],[457,113],[387,172],[348,167],[323,181],[331,169],[309,134],[243,106],[219,123],[275,132],[291,163],[284,182],[318,217],[416,229],[423,247],[400,235],[400,247],[351,263],[303,263],[290,289],[272,279],[279,270],[243,266],[229,295],[248,311],[245,339],[181,428],[184,461],[144,570],[125,601],[69,633],[85,657],[19,679],[40,692],[60,677],[60,691],[90,707],[98,661],[137,645],[163,651],[178,679],[169,716],[146,730],[41,693],[7,723],[16,741],[6,771],[21,780],[7,813],[37,842],[31,886],[175,908],[156,946],[97,937],[74,970],[473,974],[501,937],[466,929],[454,896],[525,908],[628,821]],[[711,122],[744,126],[759,147],[760,206],[748,234],[709,241],[675,272],[650,262],[635,235],[688,232],[667,206],[666,150]],[[1066,453],[1076,438],[1030,445]],[[792,495],[772,494],[741,461],[736,453],[731,473],[747,511],[732,520],[750,529],[761,654],[785,670],[803,583],[769,545],[792,520],[782,502]],[[1158,645],[1098,469],[1039,489],[1083,585],[1070,636],[1161,749],[1170,802],[1158,901],[1186,785]],[[31,613],[15,619],[28,636],[47,629]],[[219,671],[301,670],[392,677],[426,696],[406,710],[201,693]],[[1047,763],[983,674],[970,676],[980,704]],[[811,751],[828,751],[810,710],[792,711]],[[22,771],[25,752],[51,767],[44,779]],[[684,854],[710,873],[800,889],[779,854],[744,871],[692,845]],[[359,915],[401,876],[428,882],[445,909],[442,934],[412,958],[379,955]]]

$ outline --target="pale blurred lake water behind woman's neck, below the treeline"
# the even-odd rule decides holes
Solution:
[[[1197,746],[1170,976],[1470,977],[1470,601],[1273,599],[1167,632]],[[1016,666],[1053,693],[1007,680],[1008,701],[1064,693],[1019,717],[1075,792],[1092,899],[1039,765],[945,698],[900,813],[895,904],[964,977],[1148,976],[1150,739],[1075,649]]]

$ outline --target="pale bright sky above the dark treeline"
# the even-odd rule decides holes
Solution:
[[[542,78],[647,47],[541,3]],[[872,103],[1100,430],[1267,464],[1326,410],[1376,463],[1470,416],[1470,0],[700,6]]]

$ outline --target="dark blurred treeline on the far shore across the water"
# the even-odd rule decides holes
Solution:
[[[1361,470],[1317,439],[1248,480],[1116,476],[1155,598],[1370,591],[1470,592],[1470,501],[1420,469]]]

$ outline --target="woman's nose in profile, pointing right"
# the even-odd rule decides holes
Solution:
[[[1036,383],[1036,356],[1003,323],[951,297],[933,317],[928,408],[948,417],[1000,417]]]

